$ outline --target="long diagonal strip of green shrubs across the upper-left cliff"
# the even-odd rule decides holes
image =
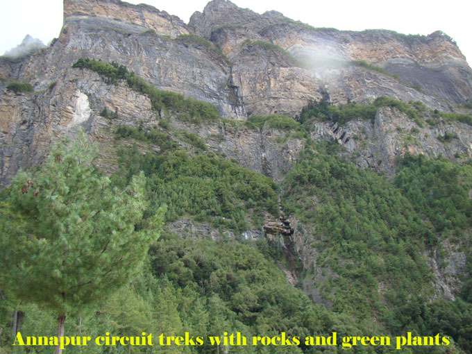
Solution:
[[[132,90],[146,94],[151,100],[153,110],[159,112],[160,115],[163,112],[172,112],[176,114],[178,119],[196,124],[219,118],[217,108],[210,103],[197,101],[192,97],[185,99],[181,94],[158,90],[153,85],[146,83],[140,76],[135,75],[133,71],[128,71],[126,67],[118,65],[116,62],[108,64],[101,60],[85,58],[77,60],[72,67],[96,71],[106,77],[109,83],[125,80]]]

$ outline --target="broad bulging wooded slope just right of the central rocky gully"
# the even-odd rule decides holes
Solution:
[[[283,187],[283,210],[313,230],[305,237],[317,249],[315,274],[327,273],[324,280],[305,277],[314,277],[336,312],[359,321],[376,317],[395,333],[421,330],[403,325],[394,309],[432,292],[422,255],[424,244],[435,243],[432,230],[400,189],[341,160],[332,147],[305,150]]]

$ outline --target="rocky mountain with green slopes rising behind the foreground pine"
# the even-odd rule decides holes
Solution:
[[[185,24],[143,4],[65,0],[49,47],[0,58],[0,183],[8,190],[82,127],[114,183],[143,169],[149,212],[169,205],[149,273],[178,311],[179,292],[198,287],[193,301],[214,307],[201,316],[219,304],[227,328],[284,330],[258,323],[269,294],[244,290],[249,278],[235,276],[234,297],[224,295],[246,267],[241,242],[251,267],[264,258],[264,276],[289,287],[272,303],[283,315],[267,323],[302,318],[289,314],[290,294],[316,308],[319,334],[441,333],[471,353],[471,103],[472,70],[441,31],[314,28],[226,0]],[[168,315],[169,330],[190,326]]]

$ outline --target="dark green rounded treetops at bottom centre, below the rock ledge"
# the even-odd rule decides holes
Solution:
[[[192,313],[193,306],[188,305],[194,303],[192,298],[199,299],[202,307],[197,321],[201,321],[203,336],[239,331],[247,337],[280,332],[305,337],[354,330],[348,321],[291,287],[275,262],[250,244],[171,237],[162,239],[150,255],[154,276],[168,280],[168,287],[183,289],[180,296],[186,297],[187,304],[180,307],[180,317]],[[234,348],[237,353],[268,353],[265,349]],[[303,344],[270,349],[280,354],[319,353]],[[216,353],[216,348],[205,345],[199,353]]]

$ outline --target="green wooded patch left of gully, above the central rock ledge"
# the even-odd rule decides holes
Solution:
[[[165,203],[169,205],[167,221],[192,215],[216,227],[239,231],[248,230],[248,221],[260,219],[264,210],[278,215],[277,185],[232,162],[211,155],[192,157],[185,151],[143,155],[136,147],[119,155],[113,180],[124,185],[144,171],[152,201],[148,214]]]

